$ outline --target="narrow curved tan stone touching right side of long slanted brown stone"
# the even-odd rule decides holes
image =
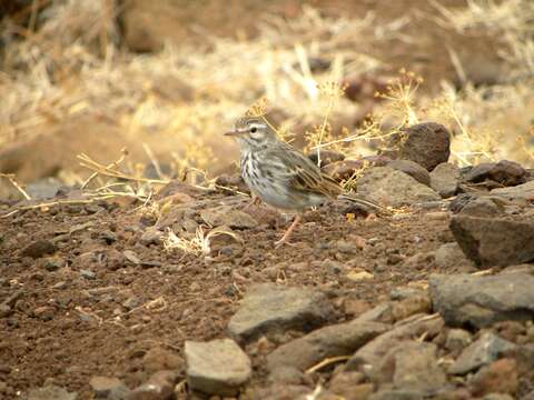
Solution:
[[[433,338],[443,327],[444,321],[438,316],[413,316],[359,348],[345,364],[345,370],[355,371],[362,368],[367,376],[376,377],[382,360],[392,348],[423,333]]]

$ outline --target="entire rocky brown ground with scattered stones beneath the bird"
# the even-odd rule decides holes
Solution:
[[[4,203],[0,397],[534,399],[534,174],[447,163],[437,124],[405,139],[357,182],[392,216],[335,201],[281,249],[233,176],[159,208]]]

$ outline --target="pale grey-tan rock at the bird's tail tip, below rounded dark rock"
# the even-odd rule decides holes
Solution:
[[[427,186],[389,167],[369,168],[358,179],[357,188],[359,194],[393,207],[442,199]]]

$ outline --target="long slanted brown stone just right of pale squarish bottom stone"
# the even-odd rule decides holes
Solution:
[[[354,353],[387,329],[384,323],[358,320],[320,328],[278,347],[267,356],[267,367],[270,371],[280,367],[306,370],[326,358]]]

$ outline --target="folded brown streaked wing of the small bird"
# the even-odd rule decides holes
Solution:
[[[267,158],[280,167],[277,174],[286,179],[295,190],[313,191],[328,197],[343,192],[339,184],[325,174],[310,159],[286,143],[270,149]]]

